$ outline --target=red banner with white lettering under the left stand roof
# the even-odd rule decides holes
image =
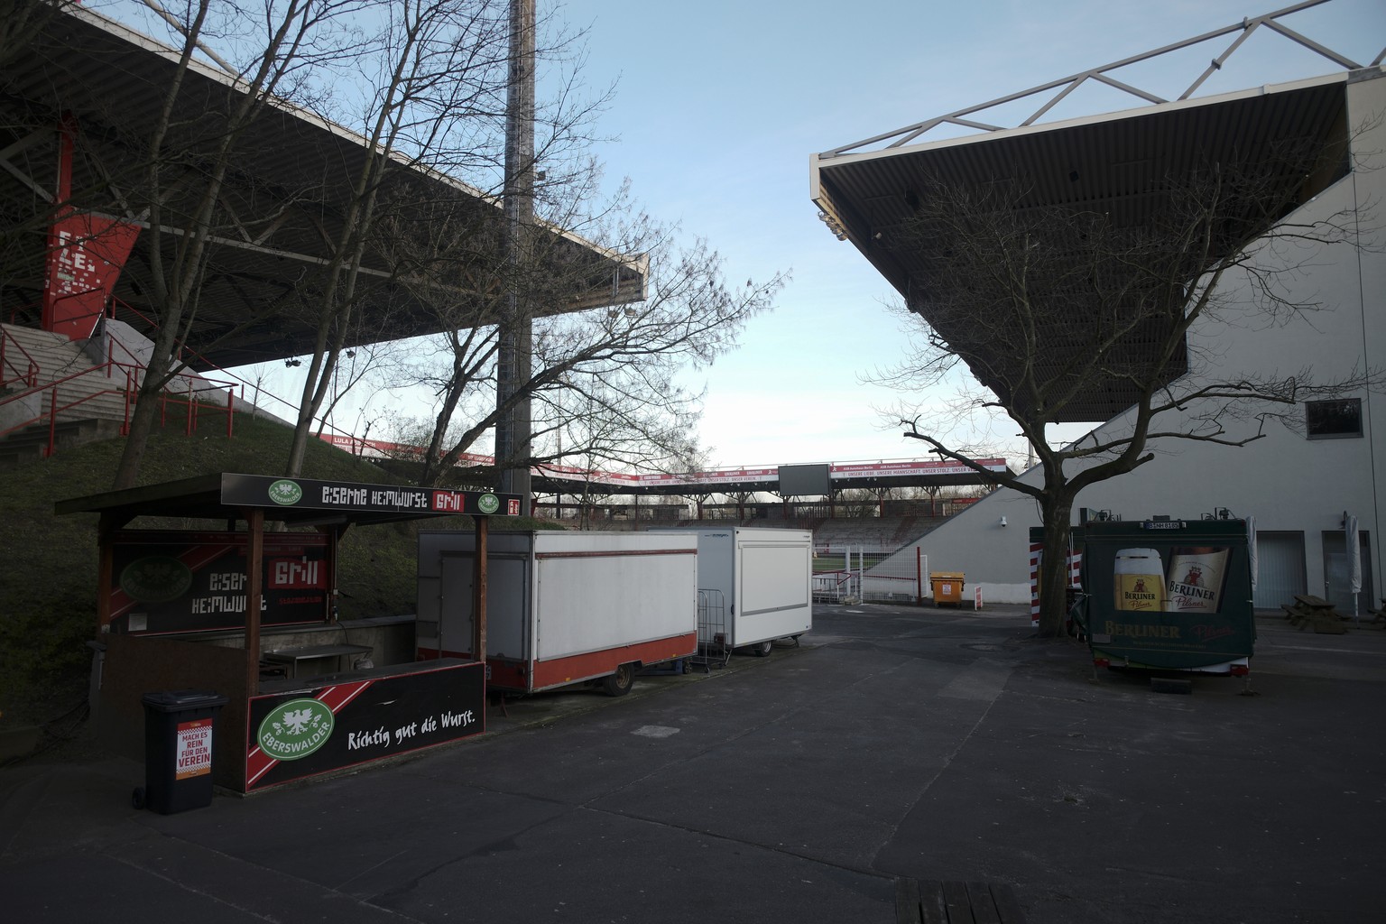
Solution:
[[[139,236],[137,224],[100,215],[73,213],[54,220],[43,330],[68,339],[90,337]]]

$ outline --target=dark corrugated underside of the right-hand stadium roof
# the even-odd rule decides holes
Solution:
[[[1344,75],[1346,76],[1346,75]],[[1343,80],[1217,100],[1204,105],[1137,109],[1077,125],[984,134],[965,141],[937,143],[863,157],[822,159],[819,206],[840,222],[850,240],[890,284],[944,339],[956,323],[942,312],[931,314],[930,267],[937,267],[948,241],[919,237],[918,213],[930,188],[949,187],[972,194],[988,187],[1019,190],[1020,209],[1059,206],[1073,212],[1107,215],[1116,227],[1152,223],[1170,205],[1170,190],[1210,163],[1249,163],[1263,152],[1313,147],[1340,154],[1346,136]],[[1303,175],[1281,177],[1278,194],[1304,201],[1343,176],[1342,158],[1306,184]],[[1254,209],[1256,204],[1249,204]],[[1082,349],[1081,299],[1073,299],[1060,323],[1041,331],[1030,359],[1058,371]],[[1063,313],[1060,313],[1063,314]],[[1096,321],[1094,321],[1096,323]],[[954,331],[956,332],[956,331]],[[1119,345],[1128,362],[1150,362],[1163,331],[1146,326]],[[977,378],[1006,396],[1008,382],[988,370],[1023,360],[1006,355],[1009,338],[997,338],[994,356],[972,364]],[[979,367],[980,366],[980,367]],[[1185,371],[1182,362],[1167,366],[1171,381]],[[1130,407],[1138,392],[1117,375],[1082,389],[1052,418],[1102,421]]]

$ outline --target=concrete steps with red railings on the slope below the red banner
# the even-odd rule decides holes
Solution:
[[[36,459],[49,445],[49,407],[55,385],[58,411],[55,445],[76,446],[94,439],[119,435],[125,423],[126,400],[123,370],[97,368],[98,363],[83,350],[82,341],[69,341],[32,327],[3,324],[6,338],[6,378],[25,370],[29,360],[37,366],[37,385],[10,382],[0,393],[0,465]],[[22,350],[22,352],[21,352]],[[37,423],[29,423],[37,421]]]

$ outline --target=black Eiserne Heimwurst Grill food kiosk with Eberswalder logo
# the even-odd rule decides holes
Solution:
[[[191,687],[226,698],[209,772],[238,792],[485,730],[482,662],[414,662],[412,616],[342,629],[337,544],[358,524],[467,514],[484,547],[492,517],[520,515],[517,495],[223,472],[55,513],[100,515],[93,698],[114,751],[141,754],[143,697]],[[129,529],[137,517],[226,529]],[[485,557],[474,567],[484,633]]]

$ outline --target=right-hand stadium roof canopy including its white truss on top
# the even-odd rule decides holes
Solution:
[[[1196,36],[1103,68],[1055,80],[999,100],[959,109],[895,132],[875,136],[812,158],[811,198],[819,217],[839,240],[850,241],[883,277],[904,296],[905,305],[936,323],[929,314],[930,277],[927,266],[934,251],[947,241],[927,240],[911,226],[919,197],[927,190],[951,187],[983,191],[988,186],[1009,183],[1024,190],[1023,208],[1064,206],[1110,215],[1119,226],[1148,222],[1166,205],[1171,177],[1191,176],[1209,163],[1235,163],[1246,152],[1268,151],[1286,143],[1310,144],[1331,150],[1346,137],[1346,87],[1351,80],[1380,76],[1380,55],[1371,65],[1336,54],[1293,32],[1281,19],[1299,10],[1318,6],[1303,3],[1267,17],[1246,19],[1234,26]],[[1264,86],[1240,93],[1193,100],[1202,83],[1256,28],[1267,28],[1303,48],[1344,68],[1344,72]],[[1234,35],[1231,47],[1216,58],[1198,80],[1178,98],[1166,100],[1134,87],[1113,72],[1170,51]],[[1138,109],[1110,112],[1089,118],[1038,125],[1038,121],[1074,89],[1096,82],[1134,96],[1143,105]],[[988,109],[1012,107],[1035,97],[1037,111],[1019,125],[984,121]],[[966,129],[976,134],[929,141],[924,136],[938,129]],[[1242,155],[1242,157],[1239,157]],[[1286,176],[1288,190],[1296,201],[1306,201],[1326,184],[1343,176],[1344,169],[1310,177]],[[1074,349],[1070,327],[1081,328],[1082,316],[1067,319],[1052,330],[1041,331],[1035,350],[1040,362],[1056,368]],[[948,330],[936,332],[945,341]],[[1146,331],[1127,344],[1130,356],[1143,357],[1159,332]],[[997,356],[1003,364],[1006,357]],[[1173,377],[1177,377],[1175,370]],[[988,381],[984,370],[973,368],[983,385],[998,395],[1003,385]],[[1091,423],[1109,420],[1135,403],[1132,387],[1116,377],[1085,389],[1064,409],[1055,423]]]

